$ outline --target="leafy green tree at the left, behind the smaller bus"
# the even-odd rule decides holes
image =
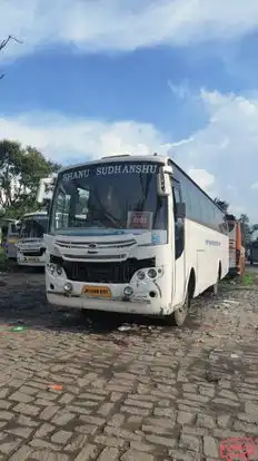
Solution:
[[[7,217],[36,210],[39,180],[57,171],[60,165],[47,160],[33,147],[17,141],[0,141],[0,208]]]

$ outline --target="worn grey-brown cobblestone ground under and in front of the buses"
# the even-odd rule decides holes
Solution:
[[[49,306],[43,274],[0,277],[0,460],[215,461],[225,439],[258,442],[258,285],[202,296],[182,330],[119,331],[132,318]]]

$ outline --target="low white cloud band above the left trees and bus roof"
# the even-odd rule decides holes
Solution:
[[[54,114],[0,117],[1,138],[36,146],[48,158],[62,163],[115,154],[167,154],[171,147],[150,124],[109,124]]]

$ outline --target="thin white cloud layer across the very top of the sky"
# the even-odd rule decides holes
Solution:
[[[66,43],[130,51],[241,37],[258,27],[257,0],[1,0],[1,36],[24,40],[8,53]]]

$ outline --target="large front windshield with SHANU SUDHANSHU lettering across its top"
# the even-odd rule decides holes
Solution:
[[[59,174],[51,233],[75,228],[167,229],[167,198],[158,196],[153,163],[108,163]]]

